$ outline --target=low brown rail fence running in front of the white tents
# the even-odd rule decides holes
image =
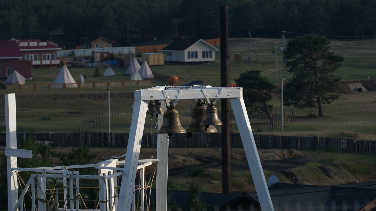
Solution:
[[[111,87],[130,87],[130,81],[111,81]],[[153,80],[132,81],[132,86],[153,86]],[[21,84],[21,85],[5,85],[5,89],[19,90],[37,90],[37,89],[67,89],[67,88],[105,88],[106,82],[91,83],[59,83],[59,84]]]

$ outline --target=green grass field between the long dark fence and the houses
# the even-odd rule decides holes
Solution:
[[[271,82],[274,82],[274,43],[279,42],[277,39],[254,39],[258,56],[261,63],[258,65],[255,57],[252,57],[252,64],[232,63],[230,62],[230,80],[232,83],[239,74],[248,69],[259,69],[262,75],[267,77]],[[374,50],[373,40],[365,41],[332,41],[330,50],[335,51],[345,57],[343,66],[337,71],[343,79],[361,79],[376,78],[376,69],[374,69]],[[219,48],[219,46],[216,46]],[[230,41],[230,56],[233,60],[233,53],[247,54],[248,41],[247,39],[231,39]],[[253,55],[253,53],[252,53]],[[205,84],[212,86],[219,86],[220,84],[220,54],[216,53],[216,62],[214,64],[204,65],[181,65],[176,63],[166,63],[164,66],[151,66],[151,69],[156,72],[167,75],[177,75],[180,78],[187,80],[202,79]],[[243,57],[243,60],[247,58]],[[277,51],[277,68],[282,70],[284,77],[290,77],[291,74],[282,69],[282,56]],[[117,74],[113,77],[93,77],[94,68],[69,68],[74,79],[79,82],[79,75],[86,75],[86,82],[96,81],[122,81],[128,80],[129,76],[124,75],[125,68],[113,68]],[[27,81],[27,84],[44,84],[52,83],[59,72],[56,69],[33,69],[32,80]],[[103,74],[105,68],[100,68]],[[279,77],[280,72],[277,72]],[[154,80],[155,85],[165,85],[167,81]],[[136,87],[136,89],[146,87]],[[135,88],[134,88],[135,89]],[[9,90],[0,90],[1,93],[9,93]],[[53,90],[12,90],[17,93],[17,119],[18,131],[56,131],[68,132],[76,131],[82,121],[92,118],[93,115],[102,113],[107,108],[106,91],[102,88],[90,89],[53,89]],[[130,126],[130,119],[132,115],[133,103],[132,91],[129,88],[120,89],[115,88],[111,94],[111,104],[119,105],[120,116],[112,118],[112,131],[128,132]],[[0,96],[0,112],[4,113],[3,96]],[[279,112],[279,96],[275,96],[270,102],[274,109]],[[191,107],[194,106],[194,101],[179,101],[177,110],[180,113],[180,121],[183,127],[190,123]],[[220,101],[217,103],[220,110]],[[289,108],[285,108],[289,109]],[[313,111],[317,113],[317,109],[295,109],[296,121],[285,124],[284,133],[288,135],[299,134],[317,135],[328,137],[344,137],[355,139],[373,139],[376,140],[376,93],[349,93],[343,94],[340,98],[330,105],[324,105],[324,118],[307,118],[306,115]],[[273,111],[274,113],[274,111]],[[4,123],[5,116],[0,115],[0,130],[5,130]],[[257,115],[250,115],[251,125],[254,131],[261,128],[266,131],[266,116],[261,115],[261,120],[258,121]],[[155,126],[155,118],[146,119],[145,131],[153,131]],[[101,122],[96,128],[88,129],[88,131],[106,131],[107,123]],[[221,127],[217,127],[220,131]],[[236,122],[232,116],[231,130],[237,131]],[[276,128],[272,133],[278,133]]]

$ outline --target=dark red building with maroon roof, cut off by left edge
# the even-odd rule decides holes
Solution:
[[[0,40],[0,78],[7,78],[15,70],[23,77],[31,78],[30,61],[22,60],[17,42]]]

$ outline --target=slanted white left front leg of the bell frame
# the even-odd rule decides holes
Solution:
[[[135,100],[117,211],[130,210],[130,206],[132,204],[133,191],[135,190],[137,164],[141,148],[141,140],[144,132],[146,108],[147,103],[145,101]]]

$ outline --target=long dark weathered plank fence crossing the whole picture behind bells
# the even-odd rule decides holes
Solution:
[[[107,133],[32,133],[39,143],[49,143],[59,147],[126,147],[129,133],[111,133],[111,143],[107,142]],[[156,133],[144,133],[141,147],[156,148]],[[17,139],[23,140],[27,133],[17,133]],[[324,137],[269,136],[254,134],[256,145],[261,149],[298,149],[311,151],[331,151],[346,153],[376,154],[376,141],[336,139]],[[0,133],[0,139],[6,140],[5,133]],[[238,133],[230,134],[232,148],[243,148]],[[249,140],[247,140],[249,141]],[[186,138],[185,133],[173,134],[168,143],[170,148],[177,147],[221,147],[220,133],[193,133]]]

